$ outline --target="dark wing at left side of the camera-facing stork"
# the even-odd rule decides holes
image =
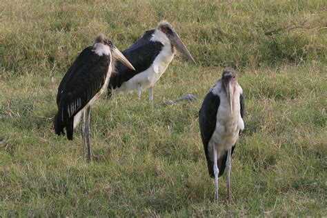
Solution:
[[[201,139],[202,143],[204,144],[204,152],[206,152],[206,159],[208,163],[208,172],[211,177],[214,177],[213,161],[210,160],[210,154],[208,152],[208,143],[216,128],[219,104],[219,96],[214,95],[210,91],[204,98],[204,102],[202,103],[201,109],[199,110],[199,126],[201,132]]]

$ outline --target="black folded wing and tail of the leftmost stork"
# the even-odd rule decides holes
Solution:
[[[72,139],[74,116],[101,90],[110,64],[110,56],[99,56],[92,47],[84,49],[63,77],[57,94],[58,113],[54,121],[57,135],[66,127]]]

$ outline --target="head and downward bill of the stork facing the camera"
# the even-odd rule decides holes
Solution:
[[[230,113],[232,114],[232,102],[234,99],[234,90],[237,86],[236,73],[232,69],[224,69],[221,77],[223,89],[226,92],[228,103],[230,106]]]

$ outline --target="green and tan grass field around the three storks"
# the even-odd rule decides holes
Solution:
[[[177,54],[148,91],[102,97],[81,131],[57,137],[57,87],[104,32],[120,50],[166,19]],[[326,1],[0,2],[0,217],[327,216]],[[232,202],[209,178],[198,110],[222,69],[246,97]],[[195,103],[164,106],[186,93]]]

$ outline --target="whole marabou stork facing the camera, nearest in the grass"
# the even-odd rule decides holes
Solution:
[[[227,197],[230,201],[230,159],[244,130],[243,90],[233,70],[224,70],[204,98],[199,110],[199,126],[210,177],[215,177],[215,199],[218,199],[218,177],[227,168]]]

